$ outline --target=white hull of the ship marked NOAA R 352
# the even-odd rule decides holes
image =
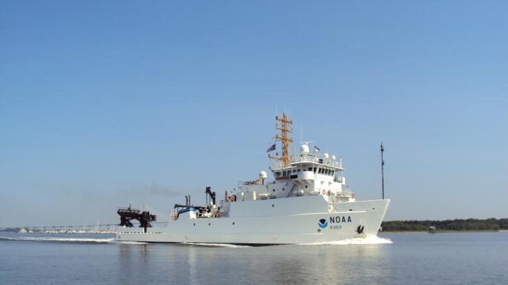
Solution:
[[[332,204],[324,195],[230,202],[225,204],[227,216],[194,218],[186,213],[166,227],[147,233],[126,229],[116,238],[146,243],[326,243],[376,235],[388,204],[388,199]]]

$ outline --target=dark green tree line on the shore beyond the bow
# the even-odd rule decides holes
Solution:
[[[485,220],[392,220],[381,224],[383,231],[428,231],[436,227],[437,231],[499,231],[508,230],[508,218]]]

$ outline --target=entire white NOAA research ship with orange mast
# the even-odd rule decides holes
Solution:
[[[150,243],[229,243],[273,245],[324,243],[376,235],[388,209],[389,199],[357,201],[346,186],[342,158],[319,154],[319,148],[302,142],[297,154],[289,137],[292,120],[276,116],[274,138],[281,155],[269,156],[273,181],[267,172],[239,182],[238,189],[216,201],[207,187],[205,206],[193,206],[190,195],[163,227],[151,227],[156,217],[148,212],[119,209],[124,231],[118,241]],[[272,145],[267,152],[273,152]],[[144,231],[133,231],[131,220]],[[125,227],[127,226],[127,227]]]

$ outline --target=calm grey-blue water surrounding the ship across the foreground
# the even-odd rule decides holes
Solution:
[[[0,233],[0,284],[92,283],[508,284],[508,232],[380,234],[267,247]]]

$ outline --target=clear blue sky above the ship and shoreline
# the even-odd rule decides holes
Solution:
[[[508,1],[2,1],[0,227],[164,215],[276,106],[387,220],[508,217]]]

